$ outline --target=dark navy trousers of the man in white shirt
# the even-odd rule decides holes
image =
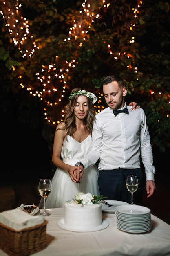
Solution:
[[[126,178],[128,175],[136,175],[139,186],[133,194],[133,203],[141,205],[143,194],[143,176],[141,169],[116,169],[99,171],[100,195],[105,196],[104,200],[120,200],[131,203],[131,193],[126,189]]]

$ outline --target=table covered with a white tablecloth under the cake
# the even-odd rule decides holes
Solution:
[[[170,256],[170,225],[151,214],[152,230],[130,234],[115,226],[114,213],[102,213],[109,221],[106,229],[72,232],[57,226],[64,208],[50,209],[46,216],[47,247],[32,256]],[[7,256],[0,250],[0,256]]]

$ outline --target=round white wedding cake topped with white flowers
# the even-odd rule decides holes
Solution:
[[[65,225],[69,228],[88,229],[102,224],[102,206],[97,196],[90,193],[75,195],[75,199],[65,203],[64,212]]]

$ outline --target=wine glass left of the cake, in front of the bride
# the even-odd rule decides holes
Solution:
[[[42,216],[48,216],[51,215],[51,213],[46,212],[45,208],[45,199],[51,192],[51,180],[50,179],[40,179],[40,182],[38,184],[38,191],[39,194],[44,198],[44,211],[40,213]]]

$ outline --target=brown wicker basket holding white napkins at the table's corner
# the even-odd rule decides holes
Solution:
[[[16,231],[0,223],[0,249],[9,256],[27,256],[46,247],[46,224]]]

